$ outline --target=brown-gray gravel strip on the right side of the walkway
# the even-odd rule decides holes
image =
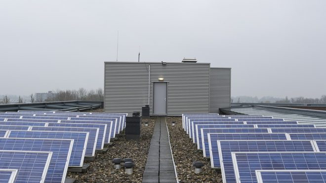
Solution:
[[[175,126],[172,126],[172,121],[176,122]],[[222,175],[210,168],[209,158],[203,157],[203,152],[197,149],[197,145],[182,129],[182,118],[168,117],[166,123],[180,183],[222,183]],[[203,174],[195,174],[192,166],[194,161],[204,163]]]

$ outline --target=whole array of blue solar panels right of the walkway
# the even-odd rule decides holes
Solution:
[[[272,116],[216,114],[183,114],[182,126],[210,158],[211,167],[221,168],[224,183],[256,183],[256,175],[259,183],[315,183],[326,178],[320,171],[326,170],[326,128]],[[243,157],[247,159],[241,162]],[[293,172],[276,172],[292,167]]]

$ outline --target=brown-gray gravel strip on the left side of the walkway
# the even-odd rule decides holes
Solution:
[[[142,124],[141,140],[119,137],[108,147],[106,154],[98,154],[95,161],[87,162],[90,163],[88,172],[68,173],[67,177],[76,178],[77,183],[141,183],[155,122],[154,118],[143,119],[143,122],[144,120],[147,120],[149,125],[145,127],[145,124]],[[133,167],[133,174],[125,174],[124,168],[114,170],[114,158],[132,158],[136,165]]]

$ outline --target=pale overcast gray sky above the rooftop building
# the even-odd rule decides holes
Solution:
[[[232,67],[232,95],[326,94],[326,0],[0,0],[0,94],[103,87],[104,61]]]

